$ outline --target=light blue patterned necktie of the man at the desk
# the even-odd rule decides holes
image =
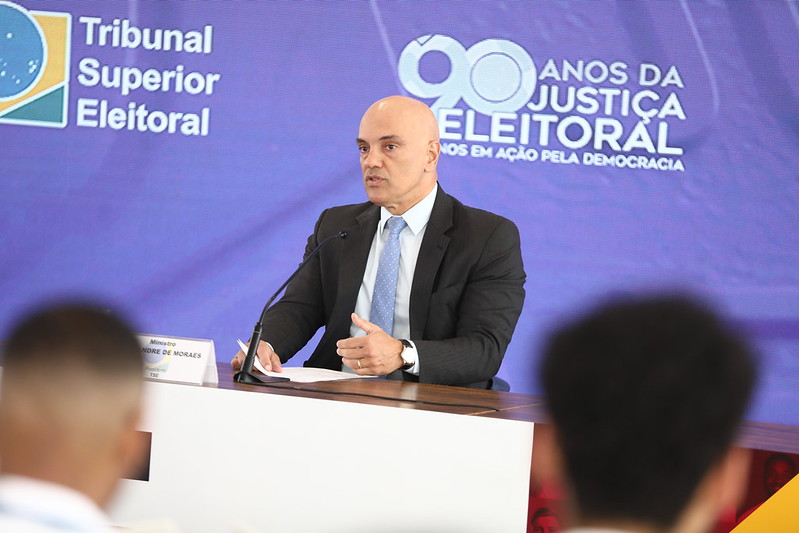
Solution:
[[[372,291],[372,310],[369,322],[380,326],[380,329],[393,335],[394,304],[397,297],[397,276],[399,275],[399,234],[408,223],[402,217],[391,217],[386,222],[389,234],[386,245],[380,254],[377,266],[377,278]]]

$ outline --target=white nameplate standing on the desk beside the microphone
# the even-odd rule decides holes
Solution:
[[[137,335],[144,356],[144,377],[180,383],[219,383],[214,341]]]

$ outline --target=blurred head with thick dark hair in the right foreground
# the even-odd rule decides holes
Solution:
[[[756,374],[747,344],[687,296],[619,299],[562,325],[540,375],[570,523],[707,530],[743,492],[748,454],[732,444]]]

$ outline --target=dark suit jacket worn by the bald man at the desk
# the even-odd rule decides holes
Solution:
[[[324,335],[305,366],[341,369],[336,341],[350,336],[350,314],[380,220],[371,202],[326,209],[305,254],[328,243],[267,313],[264,339],[282,361],[321,326]],[[411,340],[418,378],[406,381],[486,388],[496,375],[524,302],[525,273],[513,222],[464,206],[439,186],[425,230],[410,297]]]

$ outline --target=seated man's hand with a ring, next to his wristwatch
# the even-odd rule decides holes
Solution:
[[[352,313],[352,323],[366,332],[363,337],[341,339],[336,353],[342,362],[360,376],[383,376],[400,368],[402,342],[375,324]]]

